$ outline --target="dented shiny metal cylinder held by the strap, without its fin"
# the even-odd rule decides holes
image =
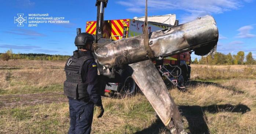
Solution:
[[[154,56],[167,57],[177,53],[207,46],[213,48],[219,33],[212,16],[206,15],[197,20],[150,33],[149,44]],[[200,55],[211,51],[206,49]],[[95,51],[101,65],[107,67],[122,66],[149,59],[146,55],[143,35],[112,41]]]

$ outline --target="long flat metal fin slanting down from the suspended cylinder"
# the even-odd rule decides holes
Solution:
[[[182,132],[183,124],[180,112],[155,65],[150,60],[146,60],[129,66],[133,69],[132,78],[149,100],[164,125],[173,134]]]

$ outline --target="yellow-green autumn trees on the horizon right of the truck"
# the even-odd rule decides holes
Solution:
[[[256,64],[256,60],[252,56],[252,52],[249,52],[245,56],[244,51],[239,51],[236,55],[227,55],[223,53],[216,52],[214,59],[210,55],[206,57],[201,57],[201,59],[195,58],[191,63],[193,64],[210,64],[210,65],[242,65],[242,64]]]

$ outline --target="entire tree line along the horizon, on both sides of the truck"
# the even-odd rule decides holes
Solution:
[[[10,59],[27,59],[27,60],[67,60],[69,55],[48,55],[43,53],[18,53],[15,54],[12,50],[6,51],[6,53],[0,53],[0,59],[8,61]],[[239,51],[236,55],[227,55],[216,52],[214,59],[210,55],[201,57],[201,59],[195,58],[191,61],[193,64],[210,64],[210,65],[242,65],[242,64],[256,64],[256,60],[252,56],[252,52],[249,52],[245,56],[244,51]]]

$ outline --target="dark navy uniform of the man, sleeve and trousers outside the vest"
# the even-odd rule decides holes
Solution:
[[[79,57],[87,55],[92,56],[92,53],[89,51],[78,51],[76,54]],[[102,105],[101,97],[98,93],[98,69],[93,59],[87,60],[84,63],[82,79],[88,83],[87,92],[89,97],[80,100],[74,100],[74,98],[68,97],[70,111],[69,134],[91,133],[94,105]]]

